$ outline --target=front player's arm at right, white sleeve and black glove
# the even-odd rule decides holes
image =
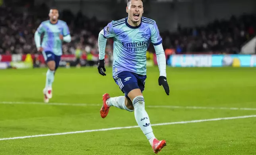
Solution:
[[[169,95],[169,85],[166,78],[166,59],[165,59],[165,51],[163,50],[162,43],[159,45],[154,45],[155,53],[157,55],[157,64],[160,72],[160,76],[158,78],[158,84],[163,85],[165,89],[165,93]]]

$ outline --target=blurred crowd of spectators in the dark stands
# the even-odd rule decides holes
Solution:
[[[40,23],[48,20],[49,8],[42,4],[28,7],[23,13],[10,7],[0,9],[0,54],[35,54],[34,33]],[[89,19],[81,12],[74,15],[69,10],[60,12],[60,19],[67,22],[72,36],[71,43],[63,44],[64,54],[98,54],[99,31],[110,21]],[[256,34],[256,16],[241,15],[230,20],[216,20],[206,26],[182,28],[176,32],[161,32],[165,49],[176,54],[184,53],[229,53],[240,52],[240,47]],[[153,52],[152,45],[149,51]],[[108,40],[106,52],[112,52],[112,40]]]

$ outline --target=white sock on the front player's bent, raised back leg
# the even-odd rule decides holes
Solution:
[[[111,97],[107,99],[106,103],[108,106],[115,106],[116,108],[133,112],[134,110],[130,110],[125,106],[124,101],[125,101],[125,96],[118,96],[118,97]]]

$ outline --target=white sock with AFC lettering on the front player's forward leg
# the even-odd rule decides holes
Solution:
[[[153,129],[151,128],[149,116],[145,110],[145,101],[143,96],[136,96],[132,100],[134,106],[134,115],[136,122],[140,126],[140,129],[143,131],[147,140],[149,140],[150,145],[152,146],[155,136],[153,134]]]

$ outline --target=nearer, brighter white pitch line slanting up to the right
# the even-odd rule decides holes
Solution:
[[[256,117],[256,115],[246,115],[246,116],[237,116],[237,117],[223,117],[223,118],[214,118],[214,119],[200,119],[200,120],[193,120],[193,121],[180,121],[180,122],[159,123],[159,124],[152,124],[151,126],[199,123],[199,122],[220,121],[220,120],[230,120],[230,119],[244,119],[244,118],[252,118],[252,117]],[[119,130],[119,129],[132,129],[132,128],[138,128],[138,127],[139,126],[115,127],[115,128],[106,128],[106,129],[96,129],[96,130],[83,130],[83,131],[73,131],[73,132],[62,132],[62,133],[54,133],[54,134],[39,134],[39,135],[33,135],[33,136],[0,138],[0,141],[1,140],[14,140],[14,139],[24,139],[24,138],[45,137],[45,136],[58,136],[58,135],[64,135],[64,134],[78,134],[78,133],[85,133],[85,132],[109,131],[109,130]]]

